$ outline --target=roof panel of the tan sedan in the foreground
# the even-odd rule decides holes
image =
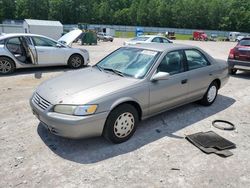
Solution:
[[[153,50],[158,52],[164,51],[173,51],[173,50],[183,50],[183,49],[199,49],[198,47],[186,45],[186,44],[176,44],[176,43],[169,43],[169,44],[161,44],[161,43],[142,43],[142,44],[135,44],[126,46],[129,48],[141,48],[146,50]]]

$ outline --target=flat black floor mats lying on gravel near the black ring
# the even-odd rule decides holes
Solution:
[[[236,145],[234,143],[221,137],[213,131],[199,132],[187,135],[186,139],[204,153],[215,153],[222,157],[229,157],[233,155],[233,153],[228,149],[236,148]]]

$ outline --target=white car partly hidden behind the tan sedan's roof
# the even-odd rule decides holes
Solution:
[[[173,43],[166,37],[160,35],[141,35],[131,39],[130,41],[124,42],[124,45],[135,45],[135,44],[145,44],[145,43]]]

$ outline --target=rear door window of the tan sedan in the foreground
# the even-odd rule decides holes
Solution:
[[[194,70],[210,65],[204,55],[198,50],[185,50],[189,70]]]

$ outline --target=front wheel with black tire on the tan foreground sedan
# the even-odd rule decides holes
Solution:
[[[115,144],[125,142],[133,136],[138,122],[136,108],[130,104],[122,104],[110,112],[103,136]]]

